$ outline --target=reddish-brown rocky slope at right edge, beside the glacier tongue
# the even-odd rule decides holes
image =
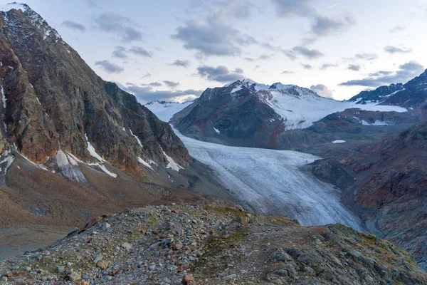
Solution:
[[[367,228],[411,252],[427,267],[427,123],[347,155],[313,172],[343,190],[344,204]]]

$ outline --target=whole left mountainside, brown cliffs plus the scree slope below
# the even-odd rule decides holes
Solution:
[[[228,199],[169,124],[97,76],[40,15],[1,9],[1,229],[71,229],[93,214],[211,199],[188,190]]]

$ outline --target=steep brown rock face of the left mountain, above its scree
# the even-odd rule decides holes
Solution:
[[[40,165],[63,150],[139,178],[148,169],[138,160],[191,161],[169,125],[102,81],[28,6],[1,11],[0,28],[2,132],[21,155]]]

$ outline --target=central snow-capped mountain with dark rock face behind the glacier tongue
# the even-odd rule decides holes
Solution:
[[[406,113],[406,109],[399,106],[356,105],[323,98],[299,86],[281,83],[266,86],[244,80],[206,89],[171,121],[181,133],[198,140],[283,149],[286,148],[283,136],[287,136],[288,131],[310,128],[327,115],[350,108]],[[362,125],[363,119],[354,124]]]

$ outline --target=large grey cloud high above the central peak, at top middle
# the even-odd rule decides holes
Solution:
[[[238,56],[242,46],[257,43],[252,36],[243,35],[231,25],[224,24],[216,16],[208,16],[204,21],[186,21],[172,35],[184,43],[184,48],[197,51],[197,56]]]

